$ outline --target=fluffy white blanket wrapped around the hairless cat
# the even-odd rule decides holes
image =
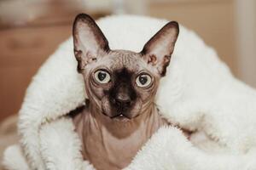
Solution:
[[[138,52],[166,20],[110,16],[97,24],[110,48]],[[5,151],[5,167],[93,169],[82,160],[78,135],[65,116],[86,98],[76,66],[69,39],[33,77],[20,109],[20,144]],[[183,26],[156,103],[170,122],[195,134],[187,140],[177,127],[160,128],[125,170],[256,169],[256,91],[233,77],[215,51]]]

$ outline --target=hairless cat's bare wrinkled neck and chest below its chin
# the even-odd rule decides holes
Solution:
[[[73,122],[82,140],[84,160],[98,170],[127,167],[159,127],[167,124],[152,107],[132,120],[112,120],[85,108]]]

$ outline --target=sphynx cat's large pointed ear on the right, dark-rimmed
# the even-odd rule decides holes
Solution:
[[[166,67],[170,63],[178,32],[176,21],[167,23],[145,44],[141,52],[143,59],[149,65],[154,65],[160,76],[166,75]]]

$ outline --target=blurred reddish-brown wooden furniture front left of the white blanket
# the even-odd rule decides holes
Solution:
[[[70,31],[70,25],[0,31],[0,119],[19,110],[32,75]]]

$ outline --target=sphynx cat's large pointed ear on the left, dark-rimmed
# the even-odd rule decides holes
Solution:
[[[73,46],[79,71],[109,50],[108,40],[88,14],[79,14],[74,20]]]

